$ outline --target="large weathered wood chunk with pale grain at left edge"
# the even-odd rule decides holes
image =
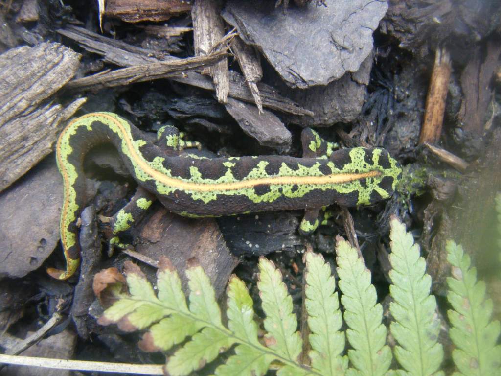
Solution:
[[[63,123],[85,102],[49,102],[75,74],[80,54],[59,43],[0,56],[0,191],[49,154]]]

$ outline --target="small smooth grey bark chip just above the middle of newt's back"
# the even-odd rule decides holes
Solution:
[[[228,98],[225,108],[243,132],[258,140],[261,145],[286,150],[291,147],[291,132],[271,111],[260,112],[252,104],[233,98]]]

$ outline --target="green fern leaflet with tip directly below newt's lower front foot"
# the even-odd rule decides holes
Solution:
[[[348,366],[341,356],[345,347],[343,323],[331,267],[319,254],[306,254],[305,307],[308,312],[312,366],[324,375],[343,374]]]

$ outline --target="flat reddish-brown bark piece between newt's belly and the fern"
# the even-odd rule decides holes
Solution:
[[[198,260],[216,296],[223,293],[233,268],[238,264],[238,258],[226,248],[214,219],[183,218],[158,206],[133,232],[136,234],[136,251],[153,260],[168,257],[176,267],[185,291],[184,271],[188,259],[195,257]]]

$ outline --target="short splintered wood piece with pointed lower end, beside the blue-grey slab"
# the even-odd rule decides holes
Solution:
[[[231,49],[236,56],[236,60],[242,70],[243,77],[245,77],[250,93],[252,93],[256,101],[259,112],[263,112],[263,102],[261,101],[257,85],[263,78],[263,68],[261,67],[259,56],[256,54],[254,48],[243,43],[240,37],[233,39],[231,42]]]

